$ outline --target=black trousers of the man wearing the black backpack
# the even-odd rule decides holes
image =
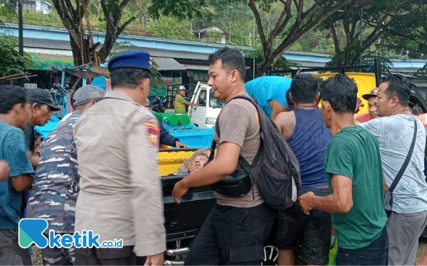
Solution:
[[[216,204],[190,246],[186,266],[259,266],[276,211],[267,204],[234,208]]]

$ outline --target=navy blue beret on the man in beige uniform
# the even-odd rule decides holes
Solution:
[[[111,72],[117,67],[142,68],[151,72],[149,53],[142,50],[132,50],[116,55],[108,62],[108,70]]]

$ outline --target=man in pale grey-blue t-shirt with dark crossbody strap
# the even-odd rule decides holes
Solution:
[[[398,74],[382,77],[375,100],[379,118],[359,124],[379,142],[388,187],[404,165],[416,126],[413,153],[392,193],[388,210],[390,266],[414,265],[418,238],[427,225],[427,183],[423,172],[426,131],[408,109],[412,86],[412,82]]]

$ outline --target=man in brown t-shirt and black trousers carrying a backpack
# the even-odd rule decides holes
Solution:
[[[179,197],[190,187],[212,185],[217,204],[191,245],[185,264],[259,266],[263,243],[273,227],[276,212],[265,203],[268,197],[261,197],[258,188],[262,185],[253,184],[245,171],[248,165],[263,163],[258,160],[261,145],[258,108],[251,100],[233,99],[248,97],[241,52],[223,48],[211,54],[209,62],[208,84],[216,98],[226,101],[214,134],[218,151],[214,160],[211,153],[205,167],[176,183],[172,195],[179,203]],[[243,161],[248,165],[242,165]],[[234,186],[227,185],[233,182]]]

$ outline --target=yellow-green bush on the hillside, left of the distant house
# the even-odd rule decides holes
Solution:
[[[188,20],[167,16],[150,19],[147,23],[147,34],[175,40],[196,40]]]

